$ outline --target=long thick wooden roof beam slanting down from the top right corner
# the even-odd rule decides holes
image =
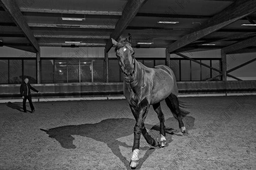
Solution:
[[[254,0],[236,0],[227,8],[214,15],[211,19],[204,22],[193,32],[183,36],[176,42],[168,46],[168,52],[171,53],[176,49],[182,48],[212,32],[215,32],[226,25],[229,25],[239,19],[242,19],[256,11]]]

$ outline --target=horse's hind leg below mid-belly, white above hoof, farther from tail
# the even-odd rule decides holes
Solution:
[[[160,136],[161,136],[160,141],[161,141],[161,147],[164,147],[165,143],[166,143],[166,139],[165,139],[165,117],[164,117],[164,114],[162,112],[160,102],[157,103],[157,104],[153,104],[152,106],[153,106],[155,112],[157,113],[158,119],[160,121]]]

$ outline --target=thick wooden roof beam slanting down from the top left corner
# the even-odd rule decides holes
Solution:
[[[23,32],[26,38],[29,40],[29,42],[34,47],[34,53],[39,51],[39,46],[37,43],[37,40],[35,39],[34,35],[31,33],[29,26],[27,25],[27,22],[23,18],[23,15],[18,7],[18,5],[15,3],[15,1],[12,0],[0,0],[2,2],[2,7],[5,9],[5,11],[8,13],[10,18],[13,20],[13,22],[19,27]]]

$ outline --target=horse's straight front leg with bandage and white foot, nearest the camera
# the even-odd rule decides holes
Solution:
[[[130,161],[130,167],[135,168],[139,165],[139,148],[140,148],[140,134],[144,132],[144,121],[148,114],[149,103],[145,98],[138,104],[139,108],[136,111],[133,106],[130,105],[133,115],[136,119],[136,124],[134,126],[134,140],[133,140],[133,155]],[[146,130],[146,129],[145,129]],[[146,131],[147,132],[147,131]]]

